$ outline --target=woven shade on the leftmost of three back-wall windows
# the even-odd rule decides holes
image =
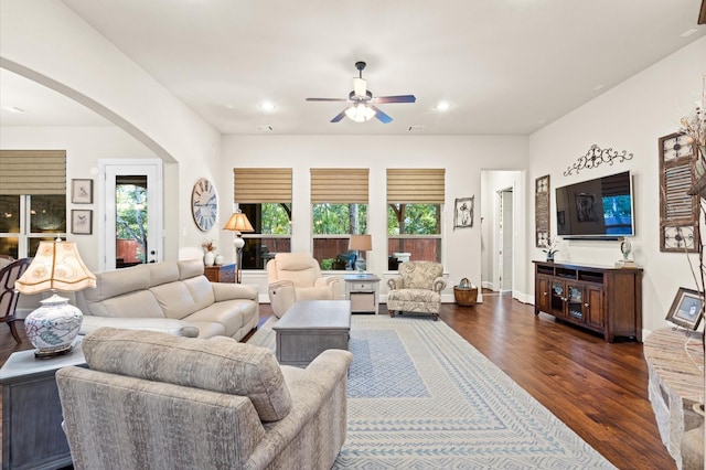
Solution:
[[[233,199],[238,204],[291,203],[291,168],[234,168]]]

